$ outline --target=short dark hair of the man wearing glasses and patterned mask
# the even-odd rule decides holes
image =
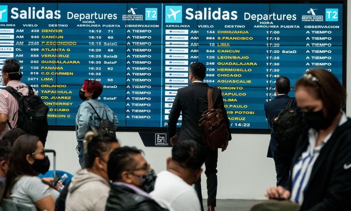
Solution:
[[[108,178],[112,181],[121,179],[124,171],[132,170],[137,165],[134,156],[143,151],[135,147],[120,147],[115,149],[107,162]]]

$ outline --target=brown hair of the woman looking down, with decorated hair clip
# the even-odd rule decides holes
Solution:
[[[346,102],[345,88],[335,75],[322,68],[306,73],[296,82],[295,87],[296,91],[300,87],[312,90],[312,94],[322,100],[326,116],[330,118],[334,118]]]

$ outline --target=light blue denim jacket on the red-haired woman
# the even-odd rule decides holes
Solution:
[[[117,116],[114,115],[113,111],[110,108],[108,108],[108,106],[106,106],[103,103],[100,103],[97,100],[89,99],[87,101],[82,102],[78,106],[78,113],[75,117],[75,134],[77,136],[78,141],[83,141],[84,135],[89,131],[89,126],[95,127],[97,129],[100,124],[98,116],[95,114],[95,111],[91,108],[88,102],[92,104],[92,106],[95,108],[95,110],[98,112],[99,116],[102,119],[110,120],[113,123],[115,129],[117,129],[118,127]]]

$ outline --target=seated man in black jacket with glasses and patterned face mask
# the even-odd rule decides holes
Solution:
[[[112,180],[105,211],[167,211],[141,188],[151,171],[141,151],[134,147],[120,147],[110,154],[107,162],[108,178]]]

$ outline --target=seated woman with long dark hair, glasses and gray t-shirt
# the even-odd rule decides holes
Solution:
[[[49,167],[50,161],[39,138],[21,135],[11,148],[0,202],[11,198],[15,202],[34,204],[41,211],[53,211],[59,192],[38,177],[39,173],[45,174]]]

